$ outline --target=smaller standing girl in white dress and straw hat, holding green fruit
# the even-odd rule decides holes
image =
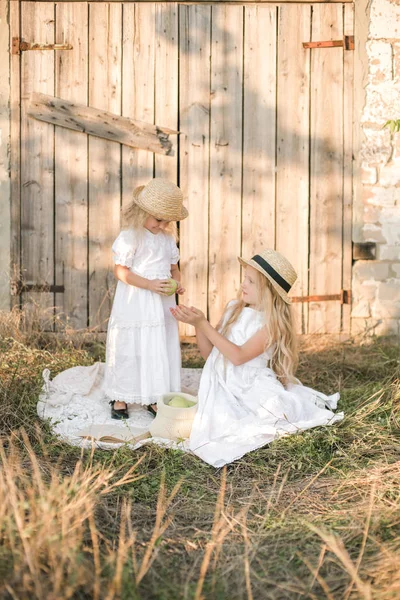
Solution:
[[[171,222],[188,216],[181,190],[165,179],[139,186],[124,212],[127,228],[115,240],[117,290],[107,332],[104,389],[111,416],[128,418],[127,405],[151,407],[167,392],[179,392],[181,353],[171,316],[175,290],[183,294],[179,252]]]

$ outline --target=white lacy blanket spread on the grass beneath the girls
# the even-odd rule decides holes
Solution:
[[[143,436],[149,430],[153,416],[142,406],[129,407],[129,419],[117,421],[111,418],[109,399],[103,390],[104,363],[97,362],[90,367],[72,367],[59,373],[52,381],[50,371],[43,371],[43,391],[37,405],[41,419],[50,421],[55,435],[72,446],[81,448],[115,449],[127,442],[111,443],[88,439],[93,431],[97,436],[100,431],[104,437],[120,437],[128,440]],[[182,369],[182,387],[197,393],[201,369]],[[101,426],[101,428],[100,428]],[[118,431],[120,435],[118,436]],[[82,437],[82,436],[86,437]],[[103,437],[102,436],[102,437]],[[132,449],[139,448],[149,441],[168,447],[186,450],[186,444],[171,440],[150,438],[129,443]]]

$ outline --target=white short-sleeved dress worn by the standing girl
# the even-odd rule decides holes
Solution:
[[[147,229],[121,231],[112,250],[115,264],[146,279],[168,279],[179,260],[174,238]],[[160,296],[118,281],[107,331],[104,390],[112,400],[153,404],[181,389],[178,325]]]

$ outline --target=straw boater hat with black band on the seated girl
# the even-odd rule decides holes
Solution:
[[[245,260],[240,256],[238,256],[238,260],[242,266],[249,265],[265,275],[282,300],[291,304],[288,292],[297,279],[297,273],[287,258],[276,250],[265,248],[250,260]]]

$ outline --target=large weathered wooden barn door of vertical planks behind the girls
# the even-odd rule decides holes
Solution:
[[[216,323],[236,257],[275,247],[299,274],[299,331],[349,331],[349,306],[321,297],[350,289],[353,52],[303,43],[352,35],[352,4],[10,6],[12,37],[72,46],[12,56],[16,303],[105,330],[120,208],[163,176],[190,212],[186,303]],[[173,155],[36,121],[32,91],[177,129]]]

